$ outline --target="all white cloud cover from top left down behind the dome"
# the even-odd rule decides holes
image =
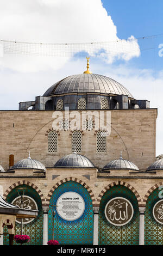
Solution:
[[[1,39],[4,40],[53,43],[119,40],[114,21],[101,0],[0,1],[0,23]],[[163,71],[155,78],[152,70],[129,68],[127,61],[140,55],[139,45],[133,38],[131,35],[128,40],[120,40],[119,47],[112,43],[109,48],[105,45],[106,53],[101,53],[100,57],[106,63],[126,60],[123,66],[99,65],[97,59],[96,63],[91,59],[91,70],[114,78],[135,98],[150,100],[151,107],[158,107],[157,154],[161,154]],[[95,50],[99,48],[97,46]],[[89,51],[89,54],[93,52]],[[5,54],[0,57],[0,109],[18,109],[18,102],[34,100],[55,82],[68,75],[80,74],[85,68],[85,59]]]

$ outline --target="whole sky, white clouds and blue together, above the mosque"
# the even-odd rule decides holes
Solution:
[[[102,5],[103,4],[103,5]],[[5,0],[0,1],[3,40],[28,42],[96,42],[163,34],[162,0]],[[126,42],[126,49],[133,47]],[[158,108],[156,155],[162,154],[163,36],[135,42],[140,54],[120,56],[110,51],[91,57],[90,69],[123,84],[135,99]],[[145,48],[154,48],[145,50]],[[118,49],[117,49],[118,50]],[[18,102],[35,100],[55,82],[86,69],[83,57],[0,57],[0,109],[18,109]]]

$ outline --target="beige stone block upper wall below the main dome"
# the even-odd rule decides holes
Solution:
[[[59,113],[60,111],[55,111]],[[84,111],[83,111],[84,112]],[[111,111],[111,134],[107,136],[106,153],[96,153],[96,133],[83,130],[82,154],[97,167],[120,157],[134,162],[140,170],[155,161],[157,109],[121,109]],[[62,156],[71,153],[72,131],[59,131],[58,153],[47,154],[47,133],[52,130],[54,111],[0,111],[0,164],[9,168],[9,155],[14,162],[28,157],[53,167]],[[64,111],[61,111],[64,113]],[[78,111],[82,114],[82,111]],[[85,113],[85,112],[84,112]],[[70,111],[73,120],[73,112]],[[81,122],[81,125],[83,124]],[[82,127],[77,127],[82,130]],[[58,127],[57,127],[58,129]]]

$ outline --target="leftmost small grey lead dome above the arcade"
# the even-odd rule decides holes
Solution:
[[[14,164],[14,166],[12,166],[10,168],[10,170],[13,169],[35,169],[35,170],[43,170],[46,171],[45,166],[43,165],[43,163],[31,159],[30,157],[28,157],[27,159],[23,159],[18,161],[17,163]]]

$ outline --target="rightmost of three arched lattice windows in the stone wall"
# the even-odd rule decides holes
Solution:
[[[96,152],[106,153],[106,132],[98,131],[96,135]]]

